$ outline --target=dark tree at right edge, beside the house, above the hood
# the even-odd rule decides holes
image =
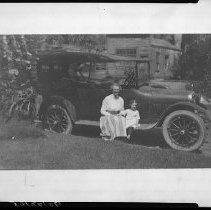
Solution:
[[[184,34],[182,54],[172,68],[175,78],[204,80],[209,72],[208,54],[211,52],[211,36]]]

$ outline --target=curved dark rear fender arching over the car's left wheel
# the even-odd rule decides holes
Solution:
[[[73,123],[77,120],[75,106],[69,99],[66,99],[62,96],[51,96],[48,99],[46,99],[40,108],[42,110],[42,113],[46,111],[47,106],[52,102],[62,103],[66,107],[68,113],[70,114]]]

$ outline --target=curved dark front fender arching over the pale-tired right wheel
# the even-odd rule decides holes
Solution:
[[[161,127],[166,116],[169,115],[171,112],[177,111],[177,110],[187,110],[187,111],[192,111],[192,112],[197,111],[199,113],[204,113],[205,115],[207,113],[205,108],[203,108],[197,104],[194,104],[191,102],[179,102],[179,103],[169,106],[164,111],[164,113],[161,115],[159,121],[157,122],[156,127]]]

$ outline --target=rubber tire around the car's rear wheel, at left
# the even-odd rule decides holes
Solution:
[[[65,132],[63,132],[63,134],[70,134],[71,131],[72,131],[72,129],[73,129],[73,122],[72,122],[72,119],[71,119],[71,117],[70,117],[70,113],[68,112],[68,108],[67,108],[63,103],[59,103],[59,102],[55,101],[55,102],[52,102],[52,103],[50,103],[50,104],[48,105],[47,110],[46,110],[46,111],[47,111],[47,112],[46,112],[46,116],[45,116],[46,125],[47,125],[47,113],[48,113],[48,110],[49,110],[51,107],[53,107],[53,106],[59,106],[59,107],[65,112],[65,114],[66,114],[66,116],[67,116],[67,118],[68,118],[69,123],[68,123],[68,128],[66,129]],[[52,129],[50,129],[50,130],[51,130],[51,131],[54,131],[54,130],[52,130]],[[56,132],[56,131],[54,131],[54,132]]]

